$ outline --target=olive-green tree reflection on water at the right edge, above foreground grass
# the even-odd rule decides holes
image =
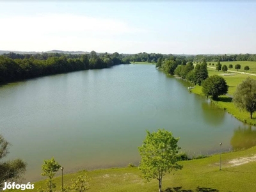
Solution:
[[[234,150],[243,148],[250,148],[256,145],[256,129],[248,125],[245,127],[238,127],[234,130],[234,135],[230,141]]]

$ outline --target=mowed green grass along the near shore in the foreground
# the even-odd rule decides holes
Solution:
[[[241,159],[242,157],[244,159]],[[255,191],[255,157],[256,147],[221,154],[221,170],[220,154],[204,159],[180,161],[180,164],[184,166],[182,170],[168,173],[163,177],[163,191],[168,191],[166,190],[167,188],[179,188],[180,191],[196,191],[196,188],[198,188],[198,191]],[[249,160],[246,160],[246,158]],[[234,159],[240,159],[240,163],[244,164],[234,166],[234,164],[230,162]],[[71,185],[71,179],[75,179],[77,176],[83,174],[84,172],[77,172],[64,175],[64,184]],[[136,167],[94,170],[88,172],[88,177],[90,178],[89,191],[158,191],[157,180],[154,179],[146,183],[141,179],[140,172]],[[54,182],[57,184],[56,191],[60,191],[61,177],[56,177]],[[40,186],[44,186],[44,184],[45,180],[35,182],[35,189],[29,191],[37,191],[37,189]]]

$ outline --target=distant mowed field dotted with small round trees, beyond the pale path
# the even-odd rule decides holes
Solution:
[[[214,66],[209,65],[209,63],[211,63],[211,64],[214,63]],[[251,73],[251,74],[256,74],[256,62],[255,61],[221,61],[220,63],[221,63],[221,66],[227,65],[227,67],[228,67],[228,65],[232,64],[233,68],[228,68],[228,70],[236,70],[235,65],[240,64],[241,69],[239,69],[238,72],[247,72],[247,73]],[[217,62],[211,62],[211,61],[207,62],[207,65],[210,67],[216,67],[216,64],[217,64]],[[244,67],[246,65],[250,67],[250,70],[248,70],[248,71],[244,70]]]

